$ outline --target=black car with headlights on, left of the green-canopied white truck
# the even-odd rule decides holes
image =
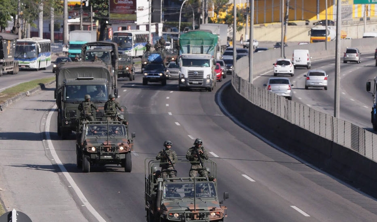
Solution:
[[[143,70],[143,85],[148,82],[161,82],[166,85],[166,68],[162,63],[148,63]]]

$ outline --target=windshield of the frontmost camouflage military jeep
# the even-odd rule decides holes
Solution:
[[[163,186],[163,198],[174,199],[174,198],[188,198],[193,197],[205,198],[205,197],[216,197],[215,184],[212,182],[188,182],[179,184],[164,184]]]

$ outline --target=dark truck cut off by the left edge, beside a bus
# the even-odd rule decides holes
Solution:
[[[20,70],[15,60],[17,39],[18,35],[0,33],[0,76],[6,72],[17,74]]]

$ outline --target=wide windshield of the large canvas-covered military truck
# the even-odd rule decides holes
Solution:
[[[83,101],[85,95],[90,95],[92,102],[105,101],[108,98],[106,85],[67,85],[65,87],[66,101]]]

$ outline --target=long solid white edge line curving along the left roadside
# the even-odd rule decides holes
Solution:
[[[78,198],[83,203],[81,206],[86,206],[86,208],[91,212],[91,214],[98,219],[98,221],[106,222],[106,220],[96,211],[96,209],[89,203],[89,201],[86,199],[84,194],[81,192],[80,188],[78,188],[77,184],[72,179],[71,175],[67,172],[67,169],[65,169],[64,165],[60,161],[58,155],[56,154],[55,147],[52,145],[51,137],[50,137],[50,122],[52,114],[55,112],[56,105],[54,105],[47,116],[46,126],[45,126],[45,135],[46,135],[46,142],[47,146],[50,149],[52,157],[54,157],[54,161],[59,166],[61,172],[63,173],[64,177],[67,179],[68,183],[72,186],[74,192],[77,194]]]

